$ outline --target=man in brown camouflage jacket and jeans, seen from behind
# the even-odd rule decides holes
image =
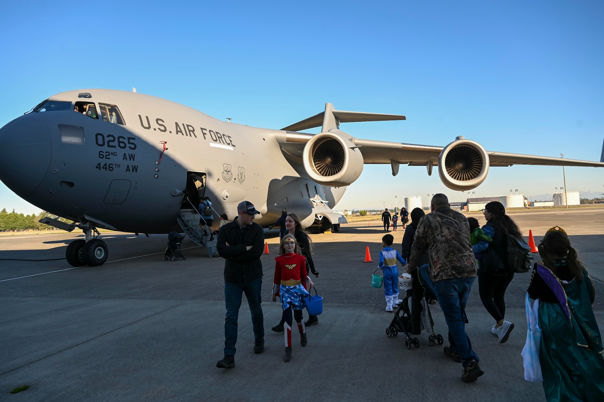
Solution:
[[[405,269],[413,272],[428,252],[430,277],[449,327],[445,355],[462,363],[461,380],[474,381],[484,374],[478,356],[466,334],[466,303],[476,279],[476,259],[470,243],[470,226],[463,214],[449,208],[445,194],[432,197],[432,212],[420,219],[411,246],[410,262]]]

